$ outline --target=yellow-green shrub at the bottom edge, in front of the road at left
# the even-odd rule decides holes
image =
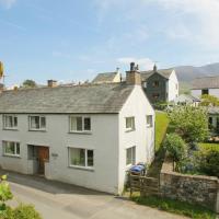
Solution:
[[[32,205],[19,205],[14,209],[14,219],[42,219]]]

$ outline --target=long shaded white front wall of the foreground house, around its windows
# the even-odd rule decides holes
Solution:
[[[76,185],[117,193],[118,184],[118,114],[90,115],[92,134],[69,134],[68,115],[46,115],[46,131],[28,131],[27,115],[19,115],[19,130],[2,130],[0,115],[0,148],[2,140],[20,141],[21,158],[2,157],[3,169],[30,173],[27,145],[49,147],[50,160],[46,164],[49,178]],[[68,147],[94,150],[94,170],[69,168]],[[57,153],[58,157],[53,157]]]

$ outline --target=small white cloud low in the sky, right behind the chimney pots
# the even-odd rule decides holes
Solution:
[[[140,70],[150,70],[154,66],[154,61],[152,61],[150,58],[122,57],[117,59],[118,64],[126,66],[128,66],[132,61],[136,65],[139,65]]]

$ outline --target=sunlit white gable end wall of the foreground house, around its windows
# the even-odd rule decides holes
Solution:
[[[148,128],[146,115],[153,115],[153,127]],[[134,131],[126,131],[126,117],[135,116]],[[126,175],[126,149],[136,146],[136,163],[150,163],[154,157],[154,111],[140,85],[136,85],[119,114],[119,192]]]

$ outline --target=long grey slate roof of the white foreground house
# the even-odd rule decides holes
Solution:
[[[0,113],[118,113],[132,89],[126,83],[111,83],[4,91]]]

